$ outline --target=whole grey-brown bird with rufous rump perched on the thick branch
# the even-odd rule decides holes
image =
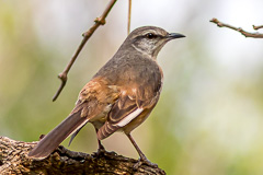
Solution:
[[[122,131],[138,152],[139,162],[151,164],[130,132],[147,119],[160,97],[163,73],[157,63],[159,51],[169,40],[182,37],[185,36],[157,26],[134,30],[80,91],[69,116],[41,139],[28,156],[47,158],[71,136],[70,144],[80,129],[91,122],[99,151],[105,150],[101,140]]]

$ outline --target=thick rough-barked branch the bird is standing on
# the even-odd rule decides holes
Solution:
[[[1,174],[165,174],[158,167],[145,164],[134,170],[136,160],[115,152],[85,154],[72,152],[62,145],[44,160],[32,160],[27,153],[36,143],[0,137]]]

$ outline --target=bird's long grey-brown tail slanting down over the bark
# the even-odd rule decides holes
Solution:
[[[28,153],[28,156],[36,159],[48,156],[67,137],[80,129],[87,122],[87,117],[81,117],[81,109],[68,116],[37,143]]]

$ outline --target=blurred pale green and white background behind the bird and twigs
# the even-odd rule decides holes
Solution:
[[[52,102],[60,84],[57,74],[107,2],[0,1],[0,136],[38,140],[67,117],[81,88],[127,35],[127,0],[117,1]],[[252,31],[252,24],[263,24],[262,5],[261,0],[133,1],[132,30],[156,25],[187,36],[159,54],[163,92],[148,120],[133,132],[148,159],[168,174],[263,174],[263,40],[209,23],[218,18]],[[138,158],[122,133],[103,143]],[[96,147],[88,125],[70,149],[92,153]]]

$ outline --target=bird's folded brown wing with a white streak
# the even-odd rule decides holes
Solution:
[[[105,139],[119,128],[127,126],[144,112],[150,113],[158,102],[159,94],[159,92],[145,91],[142,88],[122,90],[119,98],[108,113],[107,121],[98,131],[98,139]]]

